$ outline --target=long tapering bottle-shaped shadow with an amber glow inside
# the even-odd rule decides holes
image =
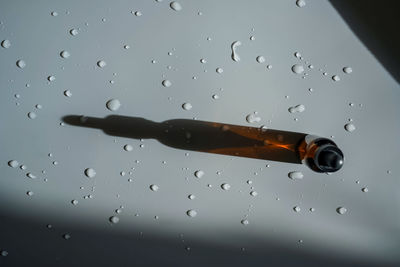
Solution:
[[[102,129],[106,134],[157,139],[169,147],[301,164],[306,134],[188,119],[161,123],[139,117],[65,116],[70,125]]]

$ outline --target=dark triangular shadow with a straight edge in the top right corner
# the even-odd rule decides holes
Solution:
[[[399,82],[400,41],[397,20],[400,2],[330,0],[330,3],[364,45]]]

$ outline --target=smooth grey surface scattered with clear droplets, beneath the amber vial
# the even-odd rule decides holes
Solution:
[[[0,265],[398,265],[399,85],[327,1],[179,3],[1,1]],[[112,114],[334,136],[345,164],[326,175],[60,125]]]

